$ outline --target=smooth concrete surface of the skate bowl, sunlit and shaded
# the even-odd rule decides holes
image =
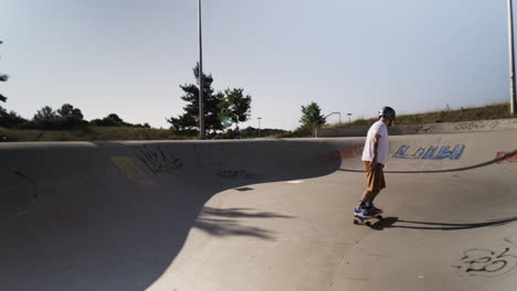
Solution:
[[[515,290],[516,130],[362,143],[0,144],[0,290]]]

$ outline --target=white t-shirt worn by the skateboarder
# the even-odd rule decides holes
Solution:
[[[388,141],[388,126],[381,120],[374,122],[368,130],[367,140],[365,142],[365,150],[362,150],[362,161],[371,162],[373,160],[373,138],[376,134],[381,136],[379,139],[379,149],[377,152],[377,162],[386,164],[390,153]]]

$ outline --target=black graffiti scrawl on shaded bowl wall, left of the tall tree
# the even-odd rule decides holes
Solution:
[[[141,146],[137,149],[136,155],[154,174],[170,172],[183,166],[183,163],[172,152],[159,146]]]

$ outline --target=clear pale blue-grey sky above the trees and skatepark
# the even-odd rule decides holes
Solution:
[[[168,128],[194,83],[197,0],[0,0],[0,104],[117,114]],[[295,129],[317,103],[341,119],[509,100],[506,0],[203,0],[203,71],[244,88],[243,125]],[[338,115],[328,118],[338,121]]]

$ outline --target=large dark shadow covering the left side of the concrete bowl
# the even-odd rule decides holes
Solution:
[[[207,202],[340,166],[334,146],[305,141],[2,144],[0,161],[0,204],[23,197],[3,207],[0,290],[52,291],[146,290],[193,227],[274,239],[245,222],[292,217]]]

